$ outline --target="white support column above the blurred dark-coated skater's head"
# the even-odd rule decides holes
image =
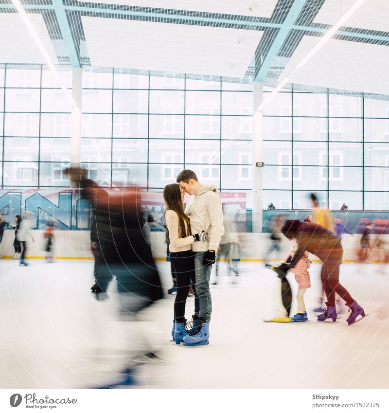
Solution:
[[[80,167],[82,119],[82,68],[73,68],[71,97],[76,103],[76,105],[71,108],[71,166]]]

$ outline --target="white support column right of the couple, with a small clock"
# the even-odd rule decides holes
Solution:
[[[253,83],[253,200],[252,200],[252,232],[262,233],[262,175],[264,168],[256,166],[257,162],[264,162],[263,158],[263,114],[259,110],[263,102],[263,83]]]

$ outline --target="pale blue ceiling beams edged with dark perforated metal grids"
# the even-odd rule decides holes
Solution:
[[[303,36],[322,36],[331,27],[331,25],[313,22],[324,1],[278,0],[271,17],[261,18],[77,0],[21,0],[27,13],[40,13],[42,15],[49,36],[53,41],[59,65],[67,67],[90,66],[82,16],[263,31],[264,34],[255,51],[252,64],[243,78],[204,76],[195,73],[184,75],[182,73],[138,71],[130,68],[127,72],[242,83],[258,80],[263,81],[268,86],[274,86],[277,83],[279,75]],[[11,0],[0,0],[0,13],[14,12],[16,10]],[[375,30],[341,27],[333,38],[389,46],[389,33]],[[13,64],[12,66],[25,67],[26,65]],[[31,65],[31,67],[41,66]],[[100,71],[102,69],[104,68],[101,68]],[[106,71],[112,71],[112,68],[106,68]],[[304,88],[304,90],[308,88],[312,91],[320,89],[302,85],[293,86],[295,90],[300,90],[300,88]],[[355,95],[360,95],[359,92],[355,93]]]

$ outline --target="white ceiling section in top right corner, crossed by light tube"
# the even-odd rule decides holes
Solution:
[[[356,0],[326,0],[315,23],[334,24]],[[389,32],[389,0],[366,0],[344,24],[347,27]]]

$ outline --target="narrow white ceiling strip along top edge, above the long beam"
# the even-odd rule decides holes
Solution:
[[[104,0],[104,3],[268,18],[272,15],[277,0]],[[250,5],[252,11],[248,8]]]

